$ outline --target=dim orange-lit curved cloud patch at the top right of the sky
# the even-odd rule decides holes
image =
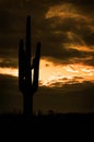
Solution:
[[[87,16],[82,15],[80,13],[80,10],[78,9],[78,7],[75,7],[71,3],[51,5],[46,13],[46,19],[50,19],[54,16],[58,16],[60,19],[66,19],[66,17],[75,19],[75,17],[78,17],[78,21],[83,20],[87,23],[91,23],[91,21],[93,21],[93,19],[89,19]]]

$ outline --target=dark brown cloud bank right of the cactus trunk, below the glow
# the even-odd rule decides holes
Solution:
[[[60,88],[40,87],[34,96],[35,110],[94,113],[94,83],[66,84]],[[39,105],[40,103],[40,105]]]

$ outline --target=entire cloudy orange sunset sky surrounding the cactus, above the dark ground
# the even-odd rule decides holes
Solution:
[[[22,109],[17,57],[28,14],[33,56],[42,43],[34,110],[94,113],[93,0],[0,0],[0,111]]]

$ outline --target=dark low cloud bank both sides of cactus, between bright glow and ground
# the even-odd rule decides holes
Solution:
[[[93,92],[94,83],[91,82],[39,87],[34,95],[34,113],[94,113]],[[3,111],[22,111],[22,94],[16,78],[0,75],[0,113]]]

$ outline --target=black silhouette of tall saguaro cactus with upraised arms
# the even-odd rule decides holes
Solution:
[[[23,114],[26,115],[33,115],[33,96],[38,90],[40,47],[42,44],[37,43],[35,58],[32,61],[31,16],[28,15],[26,19],[26,42],[24,45],[23,39],[21,39],[19,49],[19,87],[23,94]]]

